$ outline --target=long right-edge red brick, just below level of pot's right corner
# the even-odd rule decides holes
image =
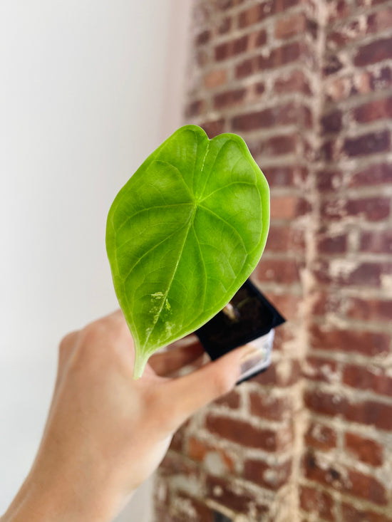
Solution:
[[[311,346],[316,350],[339,350],[346,353],[361,353],[374,356],[389,352],[391,335],[327,328],[312,324],[309,330]]]

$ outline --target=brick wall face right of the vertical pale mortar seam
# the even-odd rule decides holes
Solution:
[[[318,520],[392,520],[391,58],[391,2],[326,3],[300,491]]]

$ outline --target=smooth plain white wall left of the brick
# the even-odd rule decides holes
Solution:
[[[116,306],[105,219],[181,123],[190,0],[0,4],[1,513],[41,437],[58,341]]]

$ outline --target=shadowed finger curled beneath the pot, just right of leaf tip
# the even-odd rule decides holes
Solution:
[[[195,341],[195,343],[187,346],[163,353],[156,353],[150,357],[148,364],[153,367],[157,375],[165,376],[179,370],[183,366],[189,365],[191,362],[195,362],[204,353],[202,344]]]

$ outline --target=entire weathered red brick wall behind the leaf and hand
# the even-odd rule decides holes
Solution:
[[[392,5],[195,0],[186,122],[271,187],[272,366],[190,419],[156,521],[392,522]]]

